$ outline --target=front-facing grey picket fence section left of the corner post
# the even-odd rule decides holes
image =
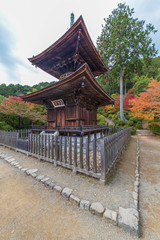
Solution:
[[[100,177],[97,161],[100,160],[100,149],[96,138],[88,136],[58,136],[53,134],[30,134],[29,154],[45,161],[53,162],[73,172],[81,172],[96,178]]]

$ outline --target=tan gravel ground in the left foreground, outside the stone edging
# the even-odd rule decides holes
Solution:
[[[137,239],[72,205],[3,160],[0,169],[1,240]]]

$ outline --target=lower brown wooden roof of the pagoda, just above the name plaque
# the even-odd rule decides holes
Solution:
[[[84,87],[82,87],[82,82],[84,82]],[[58,81],[46,88],[22,96],[22,99],[32,103],[44,104],[46,101],[67,98],[68,95],[73,93],[76,94],[79,90],[81,91],[81,96],[93,99],[99,106],[114,103],[114,99],[100,87],[97,81],[95,81],[86,63],[62,81]]]

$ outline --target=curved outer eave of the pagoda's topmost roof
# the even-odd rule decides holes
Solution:
[[[92,52],[94,53],[94,57],[96,59],[96,61],[98,62],[98,65],[101,66],[101,71],[102,73],[108,71],[108,68],[105,66],[105,64],[103,63],[97,49],[95,48],[89,33],[87,31],[87,28],[85,26],[84,20],[82,18],[82,16],[80,16],[78,18],[78,20],[74,23],[74,25],[61,37],[59,38],[54,44],[52,44],[50,47],[48,47],[46,50],[44,50],[43,52],[41,52],[40,54],[32,57],[32,58],[28,58],[28,60],[33,64],[38,66],[40,62],[42,62],[49,53],[54,52],[54,50],[56,50],[57,47],[60,47],[61,45],[65,45],[65,41],[66,39],[72,37],[74,31],[76,31],[77,29],[81,28],[85,34],[85,38],[88,41],[89,46],[92,49]],[[42,68],[42,67],[40,67]],[[103,69],[103,70],[102,70]],[[45,69],[42,68],[42,70],[46,71]],[[49,73],[49,72],[48,72]],[[101,73],[101,74],[102,74]],[[50,73],[51,74],[51,73]],[[54,74],[53,74],[54,75]],[[100,74],[99,74],[100,75]]]

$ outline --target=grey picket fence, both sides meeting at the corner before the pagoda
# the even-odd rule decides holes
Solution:
[[[97,139],[30,134],[29,154],[106,182],[130,138],[130,129]]]

